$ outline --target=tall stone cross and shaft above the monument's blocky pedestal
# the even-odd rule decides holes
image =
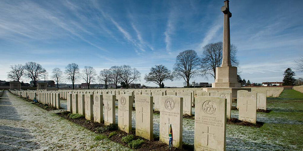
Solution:
[[[224,26],[223,26],[223,58],[221,66],[231,66],[230,61],[230,32],[229,32],[229,18],[231,18],[231,12],[229,11],[229,1],[224,1],[224,6],[221,7],[221,11],[224,13]]]

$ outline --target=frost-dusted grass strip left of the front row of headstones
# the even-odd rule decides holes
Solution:
[[[0,97],[0,150],[129,150],[5,91]]]

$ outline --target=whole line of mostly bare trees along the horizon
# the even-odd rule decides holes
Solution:
[[[238,60],[236,58],[237,47],[231,44],[231,64],[232,66],[238,66]],[[148,83],[152,82],[164,88],[164,82],[167,80],[173,81],[174,79],[183,79],[184,85],[197,86],[198,83],[190,82],[190,79],[202,76],[207,78],[207,75],[215,77],[216,68],[221,66],[223,56],[223,44],[222,42],[209,43],[203,47],[203,53],[201,57],[198,56],[195,50],[185,50],[176,57],[173,70],[169,70],[164,65],[155,65],[150,68],[150,72],[144,76],[144,80]],[[303,72],[303,57],[296,60],[296,67],[298,71]],[[31,79],[34,86],[36,82],[43,77],[46,77],[48,73],[42,66],[35,62],[28,62],[25,65],[18,64],[11,66],[11,71],[8,72],[8,79],[16,80],[20,82],[22,77]],[[59,68],[54,68],[51,78],[57,83],[63,79],[72,82],[73,89],[75,88],[75,82],[79,79],[83,79],[90,88],[92,82],[100,81],[105,84],[105,88],[109,83],[118,87],[118,84],[123,88],[128,88],[133,82],[140,81],[141,73],[129,65],[112,66],[109,69],[103,69],[97,75],[96,70],[91,66],[85,66],[82,72],[79,71],[79,66],[76,63],[70,63],[65,67],[65,71],[62,72]],[[286,69],[284,73],[283,82],[284,85],[299,85],[302,83],[302,79],[295,79],[295,73],[290,69]],[[241,86],[261,86],[260,83],[251,84],[250,80],[241,79],[238,75],[238,82]]]

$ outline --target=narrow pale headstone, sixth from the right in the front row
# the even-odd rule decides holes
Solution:
[[[103,123],[103,96],[102,94],[94,94],[94,121]]]

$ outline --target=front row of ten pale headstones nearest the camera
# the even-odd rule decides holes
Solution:
[[[87,120],[115,123],[115,95],[69,93],[67,110],[85,115]],[[151,95],[136,95],[137,136],[153,140],[153,100]],[[204,96],[196,98],[195,150],[225,150],[226,101],[225,98]],[[103,119],[103,103],[105,105]],[[118,95],[118,127],[129,133],[132,130],[132,95]],[[182,148],[183,98],[175,95],[160,97],[160,141],[169,143],[169,130],[173,132],[172,145]],[[171,129],[169,129],[171,127]]]

